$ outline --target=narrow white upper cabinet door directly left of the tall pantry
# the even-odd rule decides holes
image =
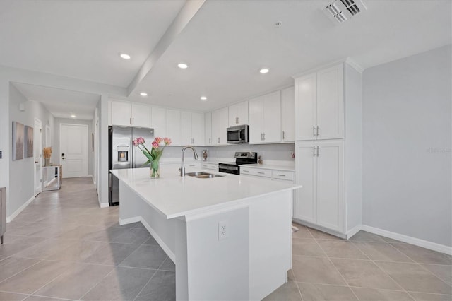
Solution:
[[[281,130],[283,142],[295,140],[295,89],[281,90]]]

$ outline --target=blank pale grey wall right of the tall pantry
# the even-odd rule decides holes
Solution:
[[[452,246],[451,46],[363,73],[364,225]]]

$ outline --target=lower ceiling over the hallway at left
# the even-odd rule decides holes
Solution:
[[[57,88],[29,85],[26,83],[13,83],[13,85],[28,100],[42,102],[54,117],[76,119],[93,119],[94,110],[100,95]]]

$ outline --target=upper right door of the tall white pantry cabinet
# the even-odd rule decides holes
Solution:
[[[317,139],[344,138],[343,65],[317,73]]]

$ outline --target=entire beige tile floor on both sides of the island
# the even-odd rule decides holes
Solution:
[[[141,223],[119,226],[90,178],[65,179],[8,223],[0,300],[174,300],[175,268]],[[452,300],[452,256],[298,225],[289,282],[266,300]]]

